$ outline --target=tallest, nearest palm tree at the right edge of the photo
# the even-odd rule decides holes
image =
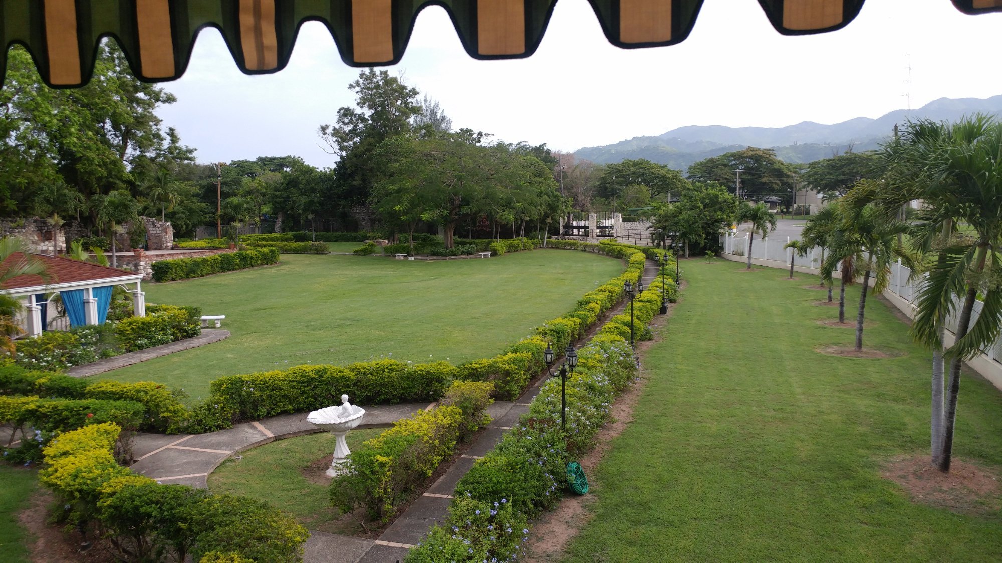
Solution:
[[[912,334],[933,350],[941,348],[946,320],[957,315],[956,342],[944,353],[950,371],[943,437],[938,457],[933,455],[934,464],[949,472],[963,361],[977,356],[1002,332],[1002,290],[993,282],[1002,268],[1002,198],[998,195],[1002,193],[1002,121],[976,114],[953,125],[908,123],[885,153],[896,172],[892,183],[899,197],[921,198],[925,205],[919,214],[925,227],[918,229],[915,245],[929,245],[934,239],[942,244],[936,248],[937,259],[928,264]],[[959,221],[969,225],[973,234],[948,237]],[[983,307],[972,325],[979,293],[984,294]],[[935,398],[933,409],[935,419]],[[934,420],[934,448],[935,425]]]

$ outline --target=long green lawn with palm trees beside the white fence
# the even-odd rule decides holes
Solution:
[[[595,471],[593,518],[569,561],[997,561],[1002,518],[912,503],[883,464],[929,450],[930,358],[868,300],[865,347],[820,326],[825,293],[779,269],[685,262],[690,283],[660,342],[635,420]],[[858,289],[849,292],[855,304]],[[1002,394],[963,378],[955,454],[1002,466]]]

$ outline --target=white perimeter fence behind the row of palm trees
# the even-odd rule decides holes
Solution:
[[[784,248],[783,245],[790,241],[789,236],[779,237],[766,237],[764,240],[761,236],[756,236],[755,240],[752,242],[752,258],[761,260],[772,260],[776,262],[781,262],[783,265],[775,264],[776,267],[790,267],[790,256],[794,254],[793,248]],[[733,256],[740,256],[742,259],[747,259],[748,250],[748,233],[737,232],[737,233],[726,233],[721,236],[721,242],[723,243],[724,253],[731,254],[728,256],[730,259],[734,259]],[[807,254],[804,256],[794,255],[794,266],[795,268],[811,268],[815,269],[815,273],[821,268],[822,250],[818,246],[811,247]],[[774,265],[774,264],[770,264]],[[909,279],[912,275],[912,270],[907,265],[902,265],[901,262],[895,262],[891,264],[891,283],[885,293],[890,293],[897,296],[900,300],[907,302],[908,307],[911,311],[906,311],[905,313],[909,317],[915,317],[915,310],[918,308],[919,294],[921,293],[922,285],[925,277],[919,277],[917,279]],[[956,333],[958,318],[960,316],[960,309],[963,304],[958,298],[954,298],[954,314],[947,319],[946,328],[951,333]],[[971,313],[971,326],[977,322],[978,317],[981,315],[981,308],[984,304],[980,301],[974,302],[974,311]],[[995,343],[987,348],[982,349],[985,356],[989,359],[1002,363],[1002,338],[995,341]]]

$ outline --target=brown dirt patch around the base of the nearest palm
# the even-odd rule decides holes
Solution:
[[[1002,509],[999,472],[954,458],[950,473],[929,463],[929,455],[899,458],[889,463],[881,477],[908,491],[912,501],[957,514],[988,516]]]

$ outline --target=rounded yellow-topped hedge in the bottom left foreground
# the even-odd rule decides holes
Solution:
[[[123,560],[302,561],[309,532],[266,503],[160,485],[118,465],[121,430],[85,426],[43,449],[39,482],[66,508],[62,523],[107,538]]]

